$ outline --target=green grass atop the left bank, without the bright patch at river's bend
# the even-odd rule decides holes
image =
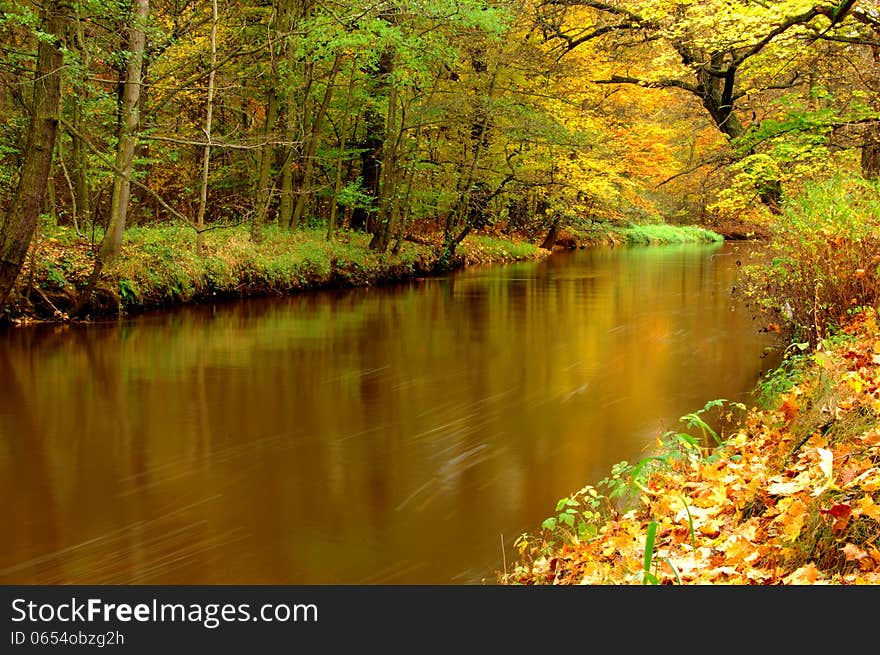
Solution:
[[[104,268],[98,292],[107,308],[135,310],[214,296],[367,286],[426,275],[437,263],[429,245],[403,241],[396,253],[377,253],[369,249],[370,239],[340,230],[327,241],[324,228],[267,226],[256,244],[246,226],[237,226],[206,232],[198,252],[196,234],[188,227],[132,227],[125,231],[122,254]],[[462,242],[461,253],[466,264],[546,255],[528,243],[478,235]],[[37,245],[34,278],[64,310],[86,286],[93,263],[88,239],[69,228],[47,226]]]

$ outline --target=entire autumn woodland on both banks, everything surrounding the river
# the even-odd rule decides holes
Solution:
[[[880,3],[0,0],[0,35],[4,324],[760,239],[778,402],[690,415],[502,580],[877,581]]]

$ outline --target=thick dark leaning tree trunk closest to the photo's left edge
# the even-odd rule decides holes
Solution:
[[[62,40],[71,17],[69,0],[47,0],[43,8],[43,32],[34,71],[33,100],[24,164],[15,197],[0,227],[0,308],[6,304],[27,256],[34,229],[46,202],[55,137],[61,119]]]

